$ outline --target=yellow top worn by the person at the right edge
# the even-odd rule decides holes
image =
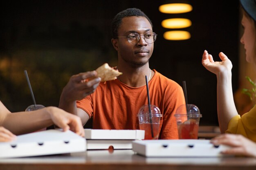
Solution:
[[[226,133],[241,134],[256,142],[256,106],[242,117],[233,117],[229,121]]]

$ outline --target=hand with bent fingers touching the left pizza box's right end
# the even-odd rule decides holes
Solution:
[[[47,111],[53,123],[59,128],[62,128],[64,131],[72,130],[77,135],[84,137],[84,129],[80,117],[56,107],[47,107]]]

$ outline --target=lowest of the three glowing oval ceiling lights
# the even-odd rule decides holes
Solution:
[[[166,40],[188,40],[191,35],[188,31],[167,31],[164,33]]]

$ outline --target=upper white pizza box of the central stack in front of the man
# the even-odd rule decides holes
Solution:
[[[141,140],[145,137],[144,130],[107,130],[84,129],[85,139],[110,139],[110,140]]]

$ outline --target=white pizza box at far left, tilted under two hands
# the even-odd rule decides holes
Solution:
[[[45,130],[17,136],[11,142],[0,142],[0,158],[31,157],[40,155],[83,152],[86,141],[67,130]]]

